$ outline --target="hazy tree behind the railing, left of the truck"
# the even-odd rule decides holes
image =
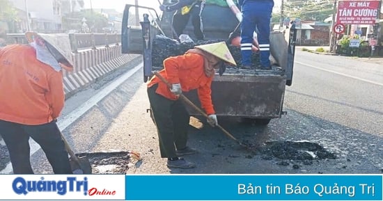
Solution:
[[[81,12],[68,13],[63,16],[63,29],[81,31],[82,19],[86,19],[86,24],[91,32],[102,32],[102,28],[108,25],[108,19],[101,13],[93,10],[81,10]]]

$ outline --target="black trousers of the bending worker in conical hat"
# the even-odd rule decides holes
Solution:
[[[157,127],[159,150],[162,158],[173,158],[175,150],[187,144],[190,115],[181,100],[171,100],[155,93],[158,84],[148,88],[150,108]]]

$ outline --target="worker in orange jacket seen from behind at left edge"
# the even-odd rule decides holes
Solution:
[[[15,174],[33,174],[29,138],[55,174],[72,174],[56,119],[64,106],[62,69],[72,63],[46,35],[26,33],[29,45],[0,49],[0,134]]]

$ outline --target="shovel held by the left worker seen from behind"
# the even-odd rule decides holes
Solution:
[[[75,152],[72,151],[70,148],[68,141],[65,140],[62,133],[61,138],[63,138],[65,149],[68,151],[68,154],[70,155],[69,162],[70,166],[72,167],[72,172],[75,175],[91,175],[92,174],[92,166],[89,160],[86,158],[86,156],[77,157]]]

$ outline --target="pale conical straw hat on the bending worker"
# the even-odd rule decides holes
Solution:
[[[237,65],[233,56],[230,54],[228,47],[226,46],[226,42],[215,42],[207,45],[198,45],[196,48],[207,51],[208,53],[217,56],[218,58],[221,58],[228,63]]]

